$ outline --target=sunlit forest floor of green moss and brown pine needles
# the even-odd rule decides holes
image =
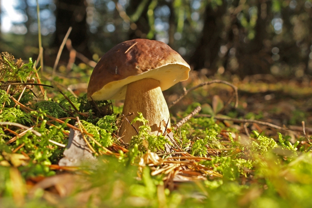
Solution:
[[[83,97],[90,70],[83,65],[70,72],[64,68],[53,79],[47,70],[41,82],[54,88],[32,87],[19,102],[22,87],[1,88],[1,207],[312,206],[307,198],[312,195],[312,81],[271,75],[207,78],[190,72],[187,81],[163,92],[167,103],[182,95],[184,87],[223,79],[238,89],[237,108],[231,86],[205,85],[169,109],[175,124],[201,107],[200,115],[168,130],[173,138],[149,136],[143,126],[124,144],[117,136],[122,101],[112,101],[114,112],[110,102],[96,102],[98,112]],[[5,81],[13,75],[6,74]],[[99,116],[103,109],[107,116]],[[13,121],[34,131],[10,126]],[[90,142],[97,162],[58,165],[70,129]],[[171,154],[165,150],[168,138]]]

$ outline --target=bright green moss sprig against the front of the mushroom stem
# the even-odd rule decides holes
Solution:
[[[130,141],[130,147],[133,148],[135,144],[138,145],[139,151],[145,152],[146,149],[143,145],[143,141],[148,142],[148,148],[150,151],[157,152],[165,149],[165,144],[169,143],[165,136],[159,135],[156,136],[154,134],[149,134],[151,131],[151,127],[148,126],[148,120],[146,120],[142,113],[138,112],[138,116],[136,116],[132,122],[141,122],[143,125],[139,127],[139,134],[136,136],[132,136]]]

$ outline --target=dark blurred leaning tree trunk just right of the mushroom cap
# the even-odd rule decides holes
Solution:
[[[204,27],[193,56],[190,58],[190,65],[194,70],[210,68],[217,70],[216,61],[222,43],[220,34],[223,29],[222,16],[227,8],[227,2],[223,1],[221,6],[211,7],[208,4],[205,11]]]

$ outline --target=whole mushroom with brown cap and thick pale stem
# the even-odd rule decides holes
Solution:
[[[95,66],[88,85],[91,100],[125,99],[122,113],[132,121],[141,112],[149,121],[150,134],[161,135],[167,121],[170,128],[168,106],[163,90],[177,82],[187,80],[189,65],[167,44],[154,40],[134,39],[110,49]],[[135,122],[134,127],[141,125]],[[123,122],[119,136],[128,143],[136,131]]]

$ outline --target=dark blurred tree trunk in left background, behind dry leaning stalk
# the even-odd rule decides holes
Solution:
[[[56,0],[55,3],[56,31],[52,46],[60,47],[68,28],[72,27],[69,36],[72,46],[76,51],[91,58],[92,53],[88,48],[89,36],[87,32],[85,0]],[[64,52],[65,51],[66,50],[64,50]]]

